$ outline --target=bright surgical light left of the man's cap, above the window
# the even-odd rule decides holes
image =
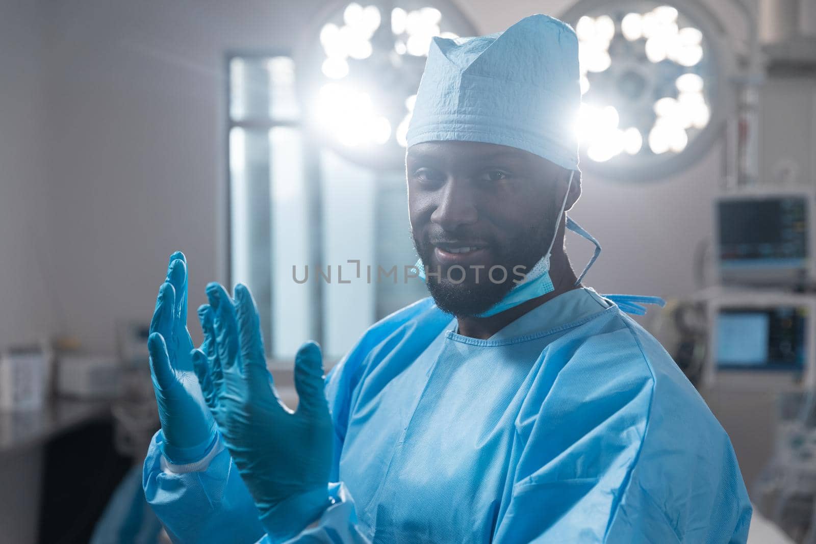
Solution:
[[[347,1],[326,15],[317,27],[319,46],[311,49],[317,69],[301,72],[304,96],[312,97],[310,126],[354,161],[399,164],[432,38],[477,32],[450,0]],[[614,33],[614,22],[599,29]],[[594,66],[608,62],[597,58]]]

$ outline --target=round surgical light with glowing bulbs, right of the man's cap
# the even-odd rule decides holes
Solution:
[[[648,177],[706,150],[721,77],[712,17],[701,6],[580,0],[564,16],[579,39],[582,165]]]

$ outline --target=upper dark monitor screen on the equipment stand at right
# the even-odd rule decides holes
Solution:
[[[805,197],[726,199],[718,206],[722,266],[804,266],[808,256]]]

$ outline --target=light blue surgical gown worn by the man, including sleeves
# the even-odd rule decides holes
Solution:
[[[486,340],[424,299],[327,379],[334,503],[290,542],[746,542],[734,449],[663,347],[581,288]],[[176,542],[270,542],[229,454],[172,467],[148,502]]]

